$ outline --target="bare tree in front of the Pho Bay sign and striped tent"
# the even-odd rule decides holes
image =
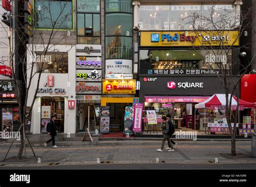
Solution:
[[[230,5],[231,6],[231,5]],[[248,62],[241,63],[239,57],[232,56],[232,52],[240,53],[239,39],[246,28],[251,27],[251,9],[246,12],[234,12],[233,7],[225,5],[208,5],[205,13],[190,12],[190,16],[180,20],[180,23],[190,25],[188,32],[195,33],[200,45],[194,46],[203,57],[204,68],[212,69],[218,76],[221,87],[225,90],[226,106],[225,114],[227,118],[228,130],[231,134],[231,154],[236,156],[235,135],[238,123],[239,99],[237,107],[233,112],[232,120],[232,97],[238,98],[238,84],[242,76],[248,73],[254,61],[254,56]],[[183,26],[181,25],[181,27]],[[232,122],[234,126],[232,128]]]

